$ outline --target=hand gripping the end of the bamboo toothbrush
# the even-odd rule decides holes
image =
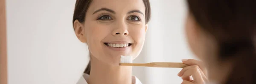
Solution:
[[[183,59],[182,62],[189,66],[184,67],[178,73],[178,76],[183,79],[181,84],[206,84],[208,82],[207,70],[203,62],[194,59]]]

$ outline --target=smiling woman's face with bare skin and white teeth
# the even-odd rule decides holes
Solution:
[[[143,0],[93,0],[81,27],[79,39],[91,56],[118,65],[121,55],[134,59],[143,48],[145,5]]]

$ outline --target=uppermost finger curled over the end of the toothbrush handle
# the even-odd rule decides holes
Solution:
[[[199,61],[199,60],[195,60],[195,59],[183,59],[182,61],[184,64],[186,65],[198,65],[199,68],[201,68],[201,70],[203,71],[203,73],[205,75],[207,75],[207,70],[206,68],[204,67],[204,63],[202,61]]]

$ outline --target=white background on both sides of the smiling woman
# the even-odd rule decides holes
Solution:
[[[88,62],[72,27],[76,0],[7,0],[9,84],[75,84]],[[186,44],[184,0],[150,0],[145,46],[134,62],[181,62]],[[134,67],[144,84],[180,84],[179,68]]]

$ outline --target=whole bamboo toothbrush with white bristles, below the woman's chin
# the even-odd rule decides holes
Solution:
[[[157,67],[157,68],[184,68],[188,65],[182,62],[150,62],[150,63],[132,63],[132,56],[121,56],[121,66],[144,66],[144,67]]]

